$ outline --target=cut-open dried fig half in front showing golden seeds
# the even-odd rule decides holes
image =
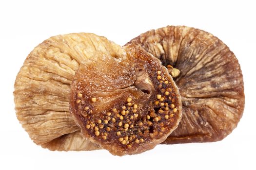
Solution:
[[[71,85],[70,113],[92,142],[115,155],[137,154],[176,129],[181,101],[157,58],[131,45],[121,54],[99,53],[80,65]]]

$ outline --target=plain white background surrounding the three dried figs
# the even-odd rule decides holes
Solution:
[[[51,152],[34,144],[16,118],[13,85],[23,61],[44,39],[90,32],[124,45],[150,29],[186,25],[216,35],[239,60],[244,115],[215,143],[158,145],[132,156],[107,151]],[[256,5],[252,1],[0,1],[0,170],[256,170]]]

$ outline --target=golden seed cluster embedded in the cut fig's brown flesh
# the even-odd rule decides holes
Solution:
[[[154,108],[159,108],[157,113],[151,111],[142,118],[139,104],[134,102],[132,97],[128,97],[122,106],[113,108],[104,113],[100,118],[94,120],[91,117],[91,106],[88,105],[84,107],[86,113],[84,116],[89,116],[85,128],[101,140],[108,140],[108,136],[112,134],[111,131],[113,132],[115,130],[116,133],[114,135],[118,139],[118,142],[127,147],[131,147],[133,144],[143,143],[144,140],[147,141],[146,138],[141,136],[143,136],[144,130],[149,131],[150,126],[154,126],[153,132],[149,134],[152,138],[156,134],[163,134],[163,132],[155,130],[153,123],[159,124],[159,129],[164,131],[164,122],[166,122],[164,120],[173,118],[175,113],[177,113],[177,107],[173,103],[172,88],[167,88],[171,83],[165,80],[159,70],[157,71],[157,80],[159,82],[158,87],[160,92],[156,95],[156,100],[153,102]],[[80,103],[83,95],[78,93],[77,96],[79,99],[76,102]],[[97,98],[95,97],[90,100],[91,102],[97,102]],[[137,123],[134,124],[133,122]],[[111,136],[109,140],[113,140],[115,136]]]

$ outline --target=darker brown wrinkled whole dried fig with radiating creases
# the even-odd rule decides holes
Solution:
[[[163,143],[212,142],[236,128],[244,109],[243,77],[236,56],[217,37],[185,26],[167,26],[132,39],[180,73],[174,78],[182,119]]]

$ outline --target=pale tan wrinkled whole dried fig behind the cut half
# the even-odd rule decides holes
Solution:
[[[31,139],[50,150],[92,150],[98,145],[77,131],[69,115],[70,84],[75,71],[97,52],[115,56],[121,49],[95,34],[51,37],[26,58],[15,81],[15,109]]]

